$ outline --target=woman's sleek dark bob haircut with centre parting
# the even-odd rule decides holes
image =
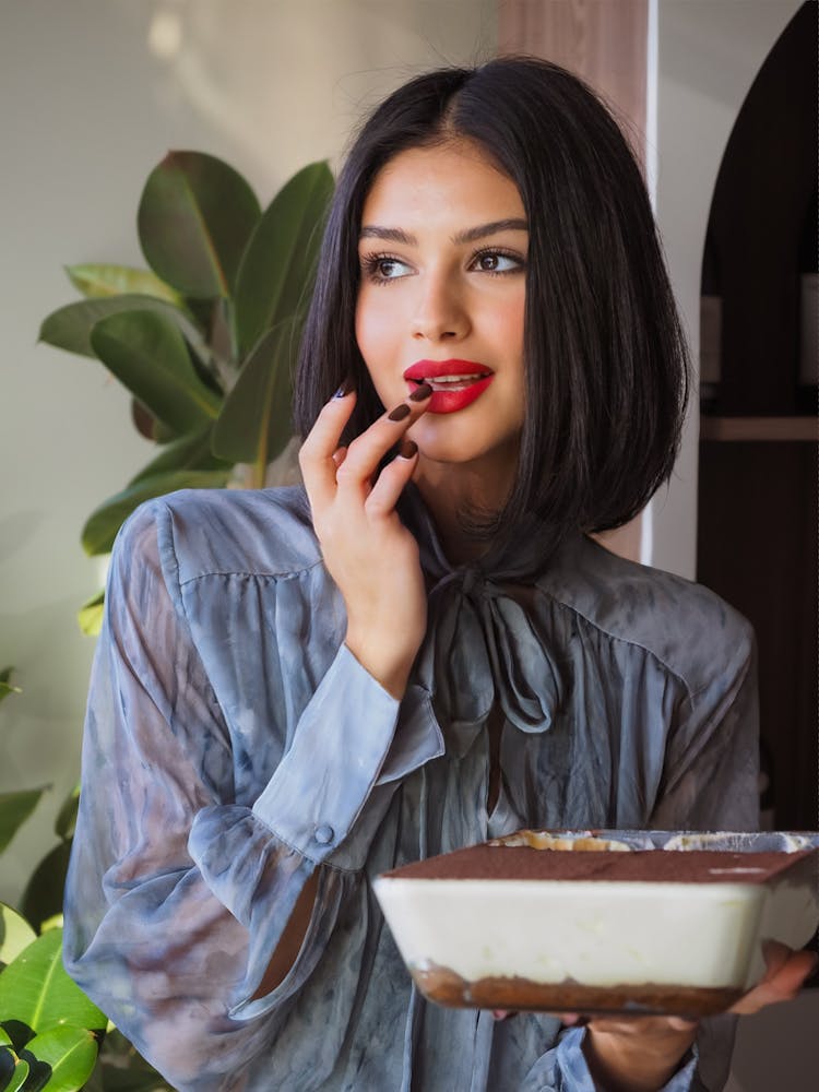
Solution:
[[[470,140],[518,186],[530,232],[526,414],[515,485],[483,533],[536,517],[557,543],[637,514],[670,474],[688,354],[645,186],[617,122],[577,76],[535,58],[418,76],[369,117],[341,171],[296,379],[306,435],[347,379],[343,439],[383,413],[356,345],[358,230],[400,152]]]

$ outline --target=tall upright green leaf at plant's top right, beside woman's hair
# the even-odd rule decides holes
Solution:
[[[299,170],[273,198],[241,259],[234,310],[235,341],[244,357],[271,327],[305,310],[333,193],[327,163]]]

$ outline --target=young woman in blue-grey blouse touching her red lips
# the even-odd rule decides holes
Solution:
[[[724,1018],[427,1005],[370,888],[521,827],[753,827],[748,626],[586,537],[669,474],[686,370],[578,80],[497,60],[376,110],[304,341],[305,489],[162,498],[112,558],[66,961],[176,1088],[721,1087]],[[778,952],[738,1011],[809,966]]]

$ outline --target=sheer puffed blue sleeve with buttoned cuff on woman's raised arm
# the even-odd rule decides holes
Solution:
[[[441,739],[420,701],[410,702],[394,743],[399,702],[342,646],[270,783],[252,808],[238,806],[229,734],[158,545],[156,510],[129,520],[111,559],[64,962],[176,1088],[207,1092],[240,1087],[248,1059],[275,1048],[340,907],[363,882],[356,868],[395,778],[438,753]],[[253,999],[317,869],[298,958]]]

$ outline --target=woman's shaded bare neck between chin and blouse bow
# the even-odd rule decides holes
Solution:
[[[479,515],[499,511],[514,483],[514,467],[499,460],[453,464],[422,455],[414,479],[450,563],[468,565],[482,557],[489,543],[466,535],[459,513],[473,511]]]

